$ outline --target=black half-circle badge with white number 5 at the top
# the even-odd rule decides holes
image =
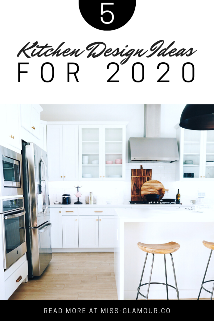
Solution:
[[[79,0],[81,15],[99,30],[116,30],[132,18],[136,0]]]

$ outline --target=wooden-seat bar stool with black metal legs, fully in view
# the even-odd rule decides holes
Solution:
[[[146,258],[145,258],[145,262],[144,262],[144,265],[143,265],[143,271],[142,271],[142,274],[141,274],[140,285],[139,285],[139,287],[138,287],[138,289],[137,289],[138,293],[137,293],[137,298],[136,298],[136,300],[138,299],[138,295],[139,295],[139,294],[140,294],[142,297],[146,298],[146,300],[148,300],[150,284],[163,284],[163,285],[166,285],[166,288],[167,288],[167,300],[169,299],[169,297],[168,297],[168,286],[171,286],[171,288],[173,288],[173,289],[176,290],[176,292],[177,292],[177,298],[178,298],[178,300],[179,300],[179,292],[178,292],[178,288],[177,288],[177,281],[176,281],[176,276],[175,276],[175,267],[174,267],[174,262],[173,262],[172,253],[176,252],[176,251],[179,249],[180,244],[175,243],[175,242],[169,242],[169,243],[165,243],[165,244],[144,244],[144,243],[140,243],[140,242],[139,242],[137,245],[138,245],[138,247],[139,247],[142,251],[146,252]],[[151,254],[153,255],[152,264],[151,264],[151,270],[150,270],[149,283],[141,284],[148,253],[151,253]],[[155,254],[164,254],[166,283],[151,282],[151,273],[152,273],[152,268],[153,268],[153,263],[154,263]],[[170,254],[171,259],[172,259],[172,267],[173,267],[173,273],[174,273],[174,278],[175,278],[175,287],[167,283],[166,254]],[[140,288],[141,288],[141,286],[147,285],[147,284],[148,284],[148,289],[147,289],[147,295],[145,296],[145,295],[143,295],[143,294],[140,292]]]

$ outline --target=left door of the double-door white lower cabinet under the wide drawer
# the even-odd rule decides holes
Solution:
[[[99,247],[98,216],[79,216],[79,247]]]

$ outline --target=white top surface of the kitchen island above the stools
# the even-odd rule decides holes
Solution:
[[[204,209],[196,212],[185,208],[116,208],[119,219],[123,222],[214,222],[214,210]]]

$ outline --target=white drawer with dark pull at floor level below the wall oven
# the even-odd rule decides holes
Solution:
[[[28,275],[28,261],[25,261],[6,281],[5,281],[5,293],[6,300],[13,294],[13,292],[19,287],[21,282]],[[21,277],[21,279],[20,279]],[[19,280],[17,282],[17,280]]]

